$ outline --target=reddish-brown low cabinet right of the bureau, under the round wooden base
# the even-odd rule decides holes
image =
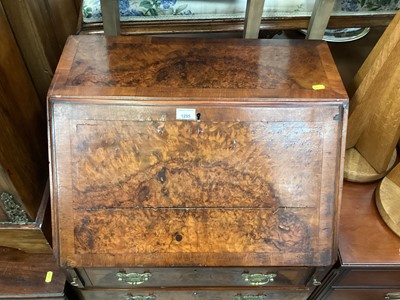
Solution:
[[[312,299],[399,299],[400,238],[375,205],[377,182],[345,182],[339,227],[340,264]]]

